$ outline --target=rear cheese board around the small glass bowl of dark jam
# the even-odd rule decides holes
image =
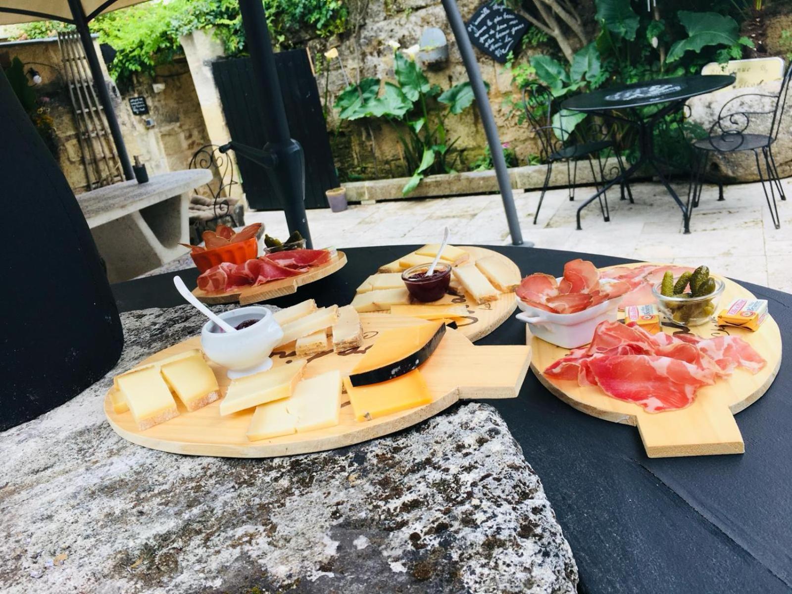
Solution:
[[[415,299],[409,276],[407,282],[404,277],[428,265],[438,249],[436,244],[428,244],[380,265],[357,288],[352,307],[360,313],[454,322],[470,341],[478,341],[501,326],[516,309],[513,291],[520,285],[520,268],[492,249],[445,246],[440,262],[449,269],[444,279],[446,290],[440,291],[440,299]]]

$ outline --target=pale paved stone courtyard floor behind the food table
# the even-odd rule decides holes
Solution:
[[[792,196],[792,179],[783,183]],[[678,186],[678,192],[687,192],[687,186]],[[576,202],[570,203],[565,188],[550,190],[537,225],[532,221],[539,192],[516,193],[524,238],[543,248],[684,265],[706,263],[726,276],[792,292],[792,200],[779,201],[781,229],[776,230],[758,183],[727,186],[723,202],[717,201],[716,186],[706,186],[689,235],[682,233],[682,215],[665,188],[648,181],[634,185],[635,204],[620,202],[618,192],[612,192],[610,223],[592,204],[584,214],[583,230],[575,230],[577,204],[591,193],[592,188],[577,188]],[[246,222],[257,221],[266,224],[269,234],[287,235],[280,211],[246,215]],[[308,221],[315,246],[436,242],[446,225],[455,243],[510,242],[497,194],[356,205],[340,213],[312,210]]]

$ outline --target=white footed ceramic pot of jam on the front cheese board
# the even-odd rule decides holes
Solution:
[[[228,377],[240,378],[272,367],[269,356],[272,349],[280,344],[284,330],[272,318],[271,310],[261,306],[239,307],[219,314],[219,317],[231,326],[250,319],[258,320],[236,332],[223,332],[211,321],[201,328],[201,348],[209,359],[227,367]]]

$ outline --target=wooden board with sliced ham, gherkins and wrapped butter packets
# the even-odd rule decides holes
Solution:
[[[693,271],[639,263],[603,268],[603,278],[630,284],[619,295],[630,297],[619,303],[622,313],[617,317],[613,303],[611,317],[598,323],[593,337],[589,333],[586,344],[571,349],[552,344],[552,332],[543,340],[528,324],[531,371],[569,406],[605,421],[636,426],[650,458],[743,453],[734,415],[761,398],[775,379],[782,352],[779,326],[766,313],[766,302],[733,280],[712,275],[710,287],[715,289],[703,304],[695,296],[682,295],[686,288],[694,290],[695,276],[690,287],[687,282],[700,268],[705,267]],[[664,301],[672,298],[657,294],[662,284],[658,279],[670,282],[675,276],[679,295],[673,299],[678,303],[663,309]],[[557,303],[555,296],[540,300],[537,279],[525,284],[530,290],[518,289],[518,295],[535,307]],[[653,288],[661,311],[642,303]],[[718,307],[718,299],[730,305]],[[746,303],[756,304],[760,316]],[[741,311],[750,324],[729,323],[730,311]],[[571,315],[581,313],[585,310]],[[546,332],[557,318],[552,313],[531,321]]]

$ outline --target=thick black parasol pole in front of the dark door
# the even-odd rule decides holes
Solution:
[[[289,230],[299,231],[306,239],[307,246],[311,247],[305,212],[305,157],[303,147],[291,138],[286,120],[264,4],[261,0],[239,0],[239,12],[242,13],[245,43],[261,96],[261,112],[268,139],[264,150],[276,157],[276,165],[267,171],[272,185],[280,193]]]

